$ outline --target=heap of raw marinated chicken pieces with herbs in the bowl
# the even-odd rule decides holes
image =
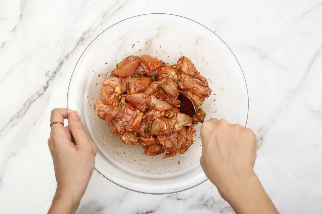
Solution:
[[[207,79],[187,57],[170,65],[149,55],[128,56],[103,81],[95,114],[108,121],[123,144],[139,144],[148,156],[174,157],[193,144],[199,123],[180,112],[179,93],[196,107],[211,94]],[[206,117],[201,108],[197,114]]]

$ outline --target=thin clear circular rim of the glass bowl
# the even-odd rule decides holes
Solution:
[[[180,15],[176,15],[176,14],[171,14],[171,13],[145,13],[145,14],[140,14],[140,15],[136,15],[136,16],[132,16],[132,17],[129,17],[129,18],[126,18],[126,19],[123,19],[123,20],[121,20],[121,21],[118,21],[118,22],[116,22],[115,24],[113,24],[113,25],[111,25],[111,26],[109,26],[107,29],[105,29],[105,30],[103,30],[99,35],[97,35],[91,42],[90,42],[90,44],[85,48],[85,50],[83,51],[83,53],[81,54],[81,56],[79,57],[79,59],[77,60],[77,62],[76,62],[76,64],[75,64],[75,67],[74,67],[74,69],[73,69],[73,72],[71,73],[71,79],[72,79],[72,77],[73,77],[73,74],[74,74],[74,71],[75,71],[75,68],[77,67],[77,64],[79,63],[79,61],[81,60],[81,58],[82,58],[82,56],[83,56],[83,54],[87,51],[87,49],[90,47],[90,45],[98,38],[98,37],[100,37],[105,31],[107,31],[107,30],[109,30],[111,27],[113,27],[114,25],[117,25],[118,23],[120,23],[120,22],[123,22],[123,21],[126,21],[126,20],[128,20],[128,19],[132,19],[132,18],[135,18],[135,17],[139,17],[139,16],[147,16],[147,15],[169,15],[169,16],[176,16],[176,17],[180,17],[180,18],[184,18],[184,19],[187,19],[187,20],[189,20],[189,21],[193,21],[193,22],[195,22],[195,23],[197,23],[197,24],[199,24],[199,25],[201,25],[201,26],[203,26],[205,29],[207,29],[207,30],[209,30],[209,31],[211,31],[212,33],[213,33],[213,35],[214,36],[216,36],[218,39],[220,39],[225,45],[226,45],[226,47],[228,47],[228,50],[231,52],[231,54],[232,54],[232,56],[234,56],[235,57],[235,59],[236,59],[236,62],[238,63],[238,65],[239,65],[239,67],[240,67],[240,69],[241,69],[241,71],[242,71],[242,75],[243,75],[243,77],[244,77],[244,81],[245,81],[245,86],[246,86],[246,92],[247,92],[247,116],[246,116],[246,122],[245,122],[245,124],[243,125],[244,127],[246,127],[246,125],[247,125],[247,121],[248,121],[248,114],[249,114],[249,94],[248,94],[248,87],[247,87],[247,82],[246,82],[246,78],[245,78],[245,75],[244,75],[244,72],[243,72],[243,70],[242,70],[242,67],[241,67],[241,65],[240,65],[240,63],[239,63],[239,61],[238,61],[238,59],[237,59],[237,57],[235,56],[235,54],[232,52],[232,50],[230,49],[230,47],[223,41],[223,39],[221,39],[215,32],[213,32],[212,30],[210,30],[209,28],[207,28],[206,26],[204,26],[203,24],[201,24],[201,23],[199,23],[199,22],[197,22],[197,21],[194,21],[194,20],[192,20],[192,19],[189,19],[189,18],[187,18],[187,17],[184,17],[184,16],[180,16]],[[71,85],[71,79],[70,79],[70,81],[69,81],[69,84],[68,84],[68,90],[67,90],[67,105],[68,105],[68,92],[69,92],[69,89],[70,89],[70,85]],[[194,187],[196,187],[196,186],[198,186],[198,185],[200,185],[200,184],[202,184],[202,183],[204,183],[205,181],[207,181],[208,180],[208,178],[206,178],[206,179],[204,179],[203,181],[201,181],[201,182],[199,182],[199,183],[197,183],[197,184],[194,184],[194,185],[192,185],[192,186],[189,186],[189,187],[187,187],[187,188],[185,188],[185,189],[181,189],[181,190],[176,190],[176,191],[172,191],[172,192],[168,192],[168,193],[146,193],[146,192],[140,192],[140,191],[137,191],[137,190],[134,190],[134,189],[130,189],[130,188],[128,188],[128,187],[125,187],[125,186],[122,186],[122,185],[120,185],[120,184],[117,184],[116,182],[114,182],[114,181],[112,181],[112,180],[110,180],[109,178],[107,178],[106,176],[104,176],[95,166],[94,166],[94,169],[96,170],[96,172],[98,172],[100,175],[102,175],[104,178],[106,178],[108,181],[110,181],[110,182],[112,182],[113,184],[116,184],[116,185],[118,185],[118,186],[120,186],[120,187],[122,187],[122,188],[124,188],[124,189],[127,189],[127,190],[130,190],[130,191],[133,191],[133,192],[137,192],[137,193],[144,193],[144,194],[151,194],[151,195],[164,195],[164,194],[173,194],[173,193],[179,193],[179,192],[183,192],[183,191],[186,191],[186,190],[189,190],[189,189],[191,189],[191,188],[194,188]]]

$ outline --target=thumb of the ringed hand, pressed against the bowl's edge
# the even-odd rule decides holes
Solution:
[[[68,116],[68,125],[76,142],[76,145],[90,144],[84,125],[80,120],[81,116],[76,111],[72,111]]]

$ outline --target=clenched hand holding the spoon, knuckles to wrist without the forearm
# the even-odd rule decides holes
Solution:
[[[227,200],[250,175],[258,147],[254,132],[240,124],[212,118],[201,126],[200,164],[208,179]],[[255,175],[256,176],[256,175]]]

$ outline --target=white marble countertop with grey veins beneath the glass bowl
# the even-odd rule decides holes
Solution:
[[[232,49],[249,90],[255,171],[281,213],[322,213],[321,0],[0,0],[0,213],[46,213],[56,188],[50,110],[66,107],[72,70],[110,25],[173,13],[207,26]],[[146,195],[94,171],[78,213],[233,213],[205,182]]]

